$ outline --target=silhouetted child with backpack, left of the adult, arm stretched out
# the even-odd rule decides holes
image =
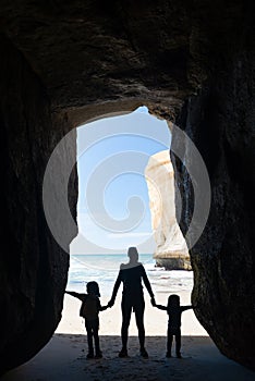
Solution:
[[[88,354],[87,358],[94,358],[93,337],[95,341],[96,355],[95,358],[101,358],[102,354],[99,345],[99,311],[104,311],[108,306],[102,307],[99,300],[100,293],[97,282],[87,283],[87,294],[78,294],[72,291],[65,291],[65,294],[72,295],[82,300],[80,316],[85,319],[85,328],[87,331]]]

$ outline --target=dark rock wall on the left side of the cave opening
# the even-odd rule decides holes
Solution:
[[[69,255],[51,236],[41,201],[45,167],[68,123],[59,116],[54,127],[41,82],[2,35],[0,45],[1,372],[29,359],[52,335],[61,318]],[[71,186],[73,210],[75,195]]]

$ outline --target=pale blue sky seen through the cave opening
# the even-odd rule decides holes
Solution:
[[[144,171],[170,142],[166,121],[146,107],[77,128],[80,234],[71,254],[123,253],[129,246],[154,251]]]

